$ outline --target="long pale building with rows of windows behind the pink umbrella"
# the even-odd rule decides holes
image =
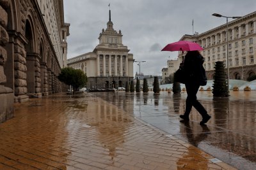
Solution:
[[[227,56],[230,79],[247,80],[256,74],[256,11],[228,22],[228,32],[226,28],[223,24],[202,34],[184,35],[180,40],[195,41],[204,48],[202,55],[209,80],[213,79],[216,61],[223,61],[227,67]]]

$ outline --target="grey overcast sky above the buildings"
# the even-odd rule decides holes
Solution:
[[[184,34],[205,32],[226,24],[226,18],[244,16],[255,11],[255,0],[63,0],[65,22],[70,23],[68,59],[92,52],[99,44],[99,33],[109,20],[121,30],[123,44],[141,63],[141,73],[160,75],[167,60],[177,59],[177,52],[161,52],[168,43],[179,41]],[[228,20],[230,21],[230,20]],[[134,62],[134,74],[139,73]]]

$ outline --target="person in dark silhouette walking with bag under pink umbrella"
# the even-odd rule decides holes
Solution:
[[[185,87],[188,94],[186,99],[186,110],[184,115],[180,115],[183,120],[189,121],[189,113],[192,106],[202,115],[200,125],[204,125],[211,118],[205,110],[204,106],[196,99],[196,94],[202,83],[202,64],[204,57],[199,51],[189,51],[185,55],[184,63],[180,67],[184,67],[186,76]]]

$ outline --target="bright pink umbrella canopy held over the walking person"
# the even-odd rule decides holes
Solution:
[[[175,43],[170,43],[166,45],[161,51],[170,51],[170,52],[175,52],[175,51],[200,51],[204,50],[198,43],[194,43],[191,41],[177,41]]]

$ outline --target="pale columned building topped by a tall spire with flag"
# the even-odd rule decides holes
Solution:
[[[86,73],[87,88],[125,87],[126,81],[133,80],[133,55],[122,44],[122,32],[113,29],[109,10],[107,29],[99,35],[99,45],[93,52],[68,59],[68,67],[81,69]]]

